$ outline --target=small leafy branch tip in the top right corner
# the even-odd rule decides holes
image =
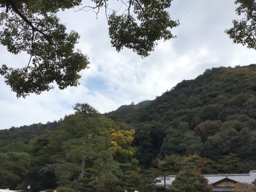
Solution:
[[[256,1],[236,0],[237,15],[243,15],[241,20],[233,20],[233,28],[227,29],[226,33],[233,39],[235,44],[246,45],[248,48],[256,49]]]

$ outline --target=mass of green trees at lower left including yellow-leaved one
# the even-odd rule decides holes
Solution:
[[[134,130],[88,104],[28,143],[0,148],[0,188],[60,191],[134,191],[141,182],[131,146]],[[44,126],[42,126],[43,129]],[[14,132],[15,133],[15,132]],[[20,146],[19,146],[20,145]]]

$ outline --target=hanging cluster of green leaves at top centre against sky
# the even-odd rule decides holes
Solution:
[[[167,1],[128,1],[127,13],[109,17],[109,36],[111,44],[120,51],[127,47],[141,56],[148,56],[154,50],[157,40],[169,40],[175,36],[170,29],[179,25],[179,22],[170,19],[166,9],[172,0]],[[134,13],[134,16],[131,12]]]

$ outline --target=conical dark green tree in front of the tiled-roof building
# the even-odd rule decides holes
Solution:
[[[207,186],[207,179],[205,179],[200,172],[196,170],[193,163],[184,166],[170,187],[172,192],[209,192],[211,188]]]

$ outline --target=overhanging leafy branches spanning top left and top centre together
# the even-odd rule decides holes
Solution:
[[[30,55],[28,63],[20,65],[23,67],[2,65],[0,74],[17,97],[51,90],[52,83],[60,89],[77,86],[78,73],[88,67],[88,57],[75,49],[79,39],[76,31],[67,33],[56,16],[58,11],[76,6],[80,6],[79,10],[95,10],[97,14],[104,8],[113,47],[117,51],[127,47],[140,56],[148,56],[157,40],[175,37],[170,29],[179,22],[170,19],[166,12],[171,1],[119,1],[125,10],[118,15],[115,10],[108,14],[108,0],[92,1],[92,6],[83,6],[81,0],[0,0],[0,43],[13,54]]]

